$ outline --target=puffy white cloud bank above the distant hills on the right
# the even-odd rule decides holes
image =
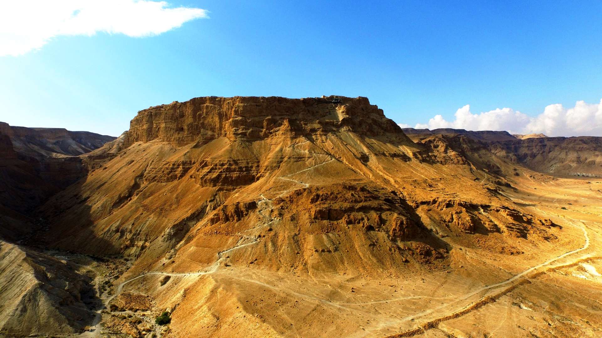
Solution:
[[[473,114],[470,105],[465,105],[456,111],[453,121],[445,120],[442,115],[435,115],[428,123],[417,123],[414,128],[507,131],[510,134],[543,133],[548,136],[602,136],[602,100],[600,103],[577,101],[573,108],[565,108],[560,104],[548,105],[536,117],[512,108]]]

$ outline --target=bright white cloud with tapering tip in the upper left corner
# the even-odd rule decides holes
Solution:
[[[60,35],[158,35],[189,20],[208,17],[207,13],[149,0],[2,1],[0,56],[25,54]]]

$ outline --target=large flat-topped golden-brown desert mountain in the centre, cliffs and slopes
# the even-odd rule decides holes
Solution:
[[[255,243],[249,236],[269,235],[240,259],[261,256],[265,267],[276,270],[282,260],[305,271],[309,262],[332,271],[374,270],[412,257],[375,249],[368,252],[377,264],[365,265],[349,257],[353,252],[342,254],[352,248],[345,246],[357,245],[343,241],[353,237],[370,247],[368,235],[376,234],[388,251],[393,242],[420,238],[418,251],[430,257],[425,260],[444,257],[445,245],[417,215],[420,206],[440,205],[431,212],[455,219],[456,230],[466,233],[477,224],[491,223],[478,230],[484,232],[504,226],[481,220],[480,207],[500,220],[520,214],[479,182],[488,164],[476,161],[473,169],[467,155],[413,143],[365,98],[331,100],[200,97],[140,111],[119,156],[42,207],[52,229],[46,238],[58,248],[80,243],[77,249],[88,254],[139,257],[146,265],[134,269],[149,270],[178,255],[183,257],[174,268],[188,255],[196,257],[194,268],[206,268],[236,241]],[[441,174],[444,165],[465,181],[465,197],[438,183],[448,179]],[[434,193],[435,186],[445,193]],[[176,198],[166,201],[167,195]],[[445,210],[452,207],[459,214]],[[265,229],[272,230],[265,235]],[[237,235],[245,232],[242,239]],[[203,248],[208,242],[214,247]],[[283,245],[299,250],[281,251]],[[322,257],[315,250],[335,254]],[[330,256],[340,257],[333,263]]]

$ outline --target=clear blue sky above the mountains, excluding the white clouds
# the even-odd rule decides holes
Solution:
[[[585,128],[602,116],[600,1],[169,3],[209,18],[152,37],[59,35],[0,57],[0,121],[119,135],[138,110],[174,100],[336,94],[410,126],[438,126],[438,114],[473,126],[453,124],[470,105],[473,129],[513,131],[554,103],[566,120],[583,100],[583,128],[529,131],[602,132]]]

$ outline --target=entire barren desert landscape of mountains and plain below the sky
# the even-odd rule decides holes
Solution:
[[[599,137],[210,96],[0,153],[0,336],[601,334]]]

